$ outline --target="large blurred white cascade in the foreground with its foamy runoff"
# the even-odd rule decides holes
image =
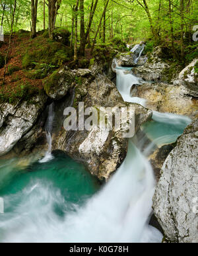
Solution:
[[[84,206],[68,211],[67,198],[48,179],[37,178],[15,196],[5,196],[7,204],[19,204],[0,220],[0,241],[161,242],[160,232],[149,226],[154,186],[149,161],[130,140],[121,167]],[[55,214],[55,205],[64,205],[64,217]]]

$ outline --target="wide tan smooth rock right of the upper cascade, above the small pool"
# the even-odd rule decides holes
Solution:
[[[131,94],[147,99],[147,107],[152,110],[198,118],[198,101],[187,95],[183,85],[144,83],[133,87]]]

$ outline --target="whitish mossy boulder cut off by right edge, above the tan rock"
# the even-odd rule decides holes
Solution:
[[[193,60],[179,75],[178,81],[187,88],[189,95],[198,97],[198,73],[195,66],[198,65],[198,59]]]

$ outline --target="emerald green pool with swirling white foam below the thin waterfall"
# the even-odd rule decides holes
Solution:
[[[0,214],[0,242],[18,241],[15,235],[23,234],[30,224],[39,230],[63,220],[98,189],[98,181],[84,165],[61,153],[47,163],[37,161],[28,167],[20,167],[18,159],[0,160],[0,197],[5,206],[5,213]]]

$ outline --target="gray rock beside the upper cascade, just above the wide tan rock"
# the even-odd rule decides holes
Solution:
[[[169,65],[162,60],[147,62],[140,67],[134,67],[133,73],[145,81],[166,81],[166,71]]]

